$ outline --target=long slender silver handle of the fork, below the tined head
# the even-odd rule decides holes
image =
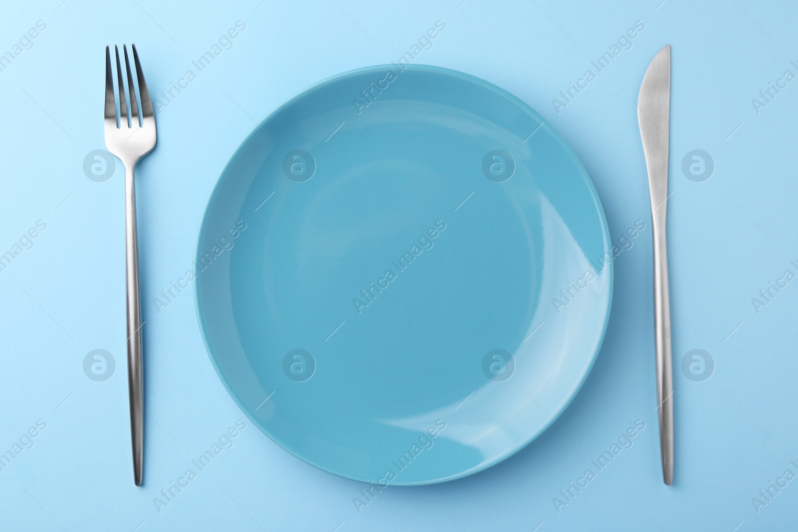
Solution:
[[[139,251],[136,241],[136,164],[124,165],[124,274],[128,322],[128,393],[130,395],[130,435],[133,450],[133,479],[141,486],[144,476],[144,380],[141,361],[141,315],[139,306]]]

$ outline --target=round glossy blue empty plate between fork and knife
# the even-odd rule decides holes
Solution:
[[[610,313],[585,169],[521,100],[430,66],[359,69],[282,104],[199,232],[196,305],[264,433],[363,482],[456,479],[573,399]]]

